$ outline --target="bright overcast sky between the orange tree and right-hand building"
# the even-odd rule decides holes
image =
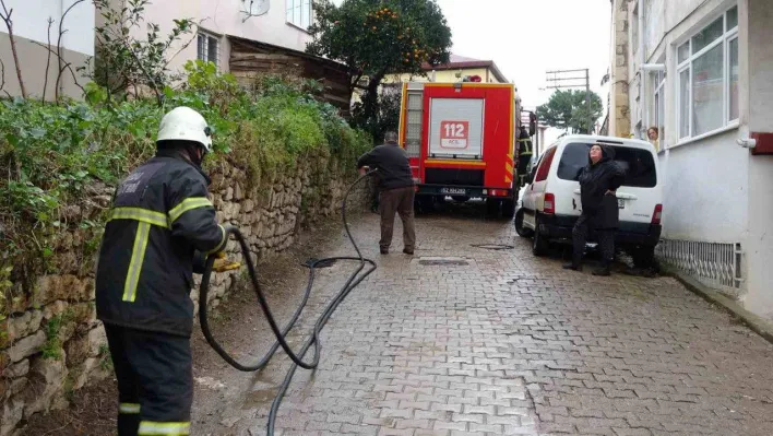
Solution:
[[[600,82],[609,68],[609,0],[437,1],[453,34],[452,51],[493,60],[518,86],[524,108],[549,99],[552,90],[540,90],[546,71],[584,68],[606,106],[608,85]],[[560,134],[551,130],[548,143]]]

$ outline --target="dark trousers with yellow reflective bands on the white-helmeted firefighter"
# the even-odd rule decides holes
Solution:
[[[190,339],[105,325],[118,379],[118,435],[188,435]]]

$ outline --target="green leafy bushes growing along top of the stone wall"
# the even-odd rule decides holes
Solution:
[[[207,165],[229,160],[247,170],[252,186],[312,152],[353,170],[355,157],[370,146],[370,138],[314,98],[316,82],[266,76],[245,90],[212,63],[189,62],[186,69],[188,82],[181,90],[166,87],[163,105],[155,98],[108,101],[94,83],[84,102],[1,102],[0,321],[13,298],[24,297],[11,290],[32,294],[62,224],[79,224],[60,223],[58,211],[78,203],[95,180],[114,185],[151,157],[160,118],[173,107],[201,111],[215,131]]]

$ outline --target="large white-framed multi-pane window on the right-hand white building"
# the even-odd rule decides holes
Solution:
[[[738,8],[677,47],[679,139],[722,129],[738,119]]]

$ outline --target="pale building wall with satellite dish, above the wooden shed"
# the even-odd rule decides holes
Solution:
[[[154,1],[145,12],[145,21],[156,23],[162,32],[168,33],[174,26],[173,20],[191,17],[203,20],[201,27],[215,36],[234,35],[262,43],[287,47],[295,50],[306,50],[306,44],[311,40],[308,32],[296,27],[286,21],[286,0],[270,0],[266,14],[253,16],[242,22],[247,16],[245,4],[239,0],[166,0]],[[255,2],[258,3],[258,2]],[[144,30],[134,30],[135,36],[145,34]],[[177,47],[178,49],[180,47]],[[221,37],[219,61],[222,71],[228,71],[230,47],[225,37]],[[197,58],[195,39],[170,62],[173,70],[179,70],[189,60]]]

